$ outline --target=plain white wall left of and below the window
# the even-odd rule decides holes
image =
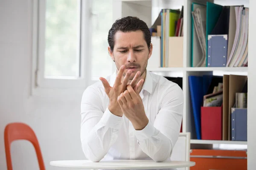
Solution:
[[[32,0],[0,0],[0,170],[6,170],[3,130],[9,122],[25,122],[35,131],[47,170],[49,161],[85,159],[80,143],[80,99],[31,97]],[[14,170],[37,170],[32,144],[12,144]]]

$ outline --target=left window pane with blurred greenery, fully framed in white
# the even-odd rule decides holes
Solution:
[[[47,0],[45,76],[80,75],[80,0]]]

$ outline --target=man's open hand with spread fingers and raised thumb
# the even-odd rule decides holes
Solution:
[[[116,116],[123,115],[122,110],[117,102],[117,97],[122,92],[124,92],[126,90],[127,83],[132,74],[132,71],[128,70],[123,81],[122,81],[122,75],[123,75],[124,70],[125,70],[125,66],[122,65],[116,75],[116,80],[113,84],[113,87],[111,87],[109,85],[108,81],[105,78],[103,78],[103,77],[99,78],[102,81],[102,84],[105,88],[105,93],[108,95],[108,98],[109,98],[108,109],[109,109],[109,111],[111,111],[111,113],[113,113]],[[139,77],[140,77],[140,72],[138,71],[137,74],[135,75],[134,79],[131,82],[132,86],[134,86],[136,88],[140,88],[140,86],[143,84],[143,81],[139,81],[137,83]]]

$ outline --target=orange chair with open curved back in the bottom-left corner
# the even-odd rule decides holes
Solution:
[[[38,158],[40,170],[45,170],[38,139],[31,127],[24,123],[9,123],[4,130],[4,144],[6,150],[7,169],[12,170],[11,143],[15,140],[25,139],[33,144]]]

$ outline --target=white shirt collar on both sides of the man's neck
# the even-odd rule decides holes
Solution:
[[[116,74],[117,74],[117,70],[111,75],[111,79],[110,79],[110,86],[113,87],[114,82],[116,80]],[[142,87],[142,90],[148,91],[148,93],[152,93],[153,91],[153,79],[150,75],[150,72],[146,70],[146,77],[145,77],[145,81]]]

